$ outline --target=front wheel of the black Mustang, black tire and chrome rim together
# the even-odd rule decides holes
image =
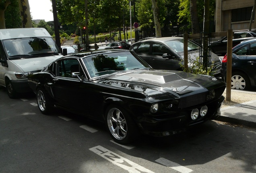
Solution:
[[[131,143],[138,135],[136,124],[120,107],[108,107],[105,121],[109,134],[116,143]]]

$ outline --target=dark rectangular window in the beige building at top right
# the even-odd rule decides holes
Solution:
[[[238,8],[232,10],[232,22],[251,20],[252,7]]]

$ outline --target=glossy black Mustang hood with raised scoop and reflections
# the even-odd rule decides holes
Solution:
[[[147,89],[151,89],[176,98],[187,96],[191,93],[204,93],[225,86],[224,82],[212,76],[172,70],[140,70],[118,73],[103,79],[111,81],[107,82],[107,84],[138,90],[147,95],[152,93],[152,91],[150,93],[147,92]]]

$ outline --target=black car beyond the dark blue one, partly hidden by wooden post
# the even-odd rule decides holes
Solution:
[[[240,31],[234,32],[232,38],[232,47],[235,47],[237,44],[241,43],[244,40],[256,38],[256,34],[252,31]],[[210,44],[210,48],[213,53],[224,56],[227,53],[227,36],[223,37],[217,42]]]

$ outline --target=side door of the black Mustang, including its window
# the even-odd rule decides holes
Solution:
[[[80,78],[85,78],[81,64],[78,59],[69,58],[59,60],[56,66],[56,77],[53,79],[54,84],[51,86],[54,98],[61,107],[81,112],[82,108],[85,109],[87,106],[85,102],[88,102],[88,99],[83,99],[83,96],[87,94],[87,90],[84,89],[86,82],[81,82],[79,78],[72,77],[72,72],[79,72]]]

